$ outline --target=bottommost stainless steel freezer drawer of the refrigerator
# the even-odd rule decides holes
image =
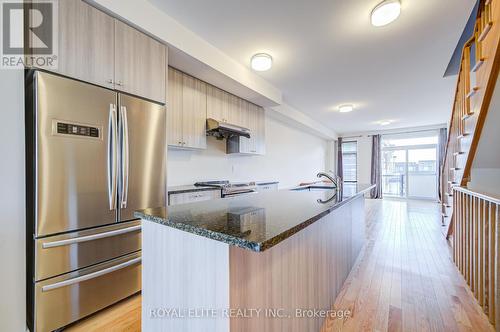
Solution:
[[[58,329],[137,293],[140,262],[139,252],[36,283],[35,331]]]

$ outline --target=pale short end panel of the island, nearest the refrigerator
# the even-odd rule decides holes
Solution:
[[[142,222],[142,330],[229,331],[229,318],[191,309],[229,308],[229,245]]]

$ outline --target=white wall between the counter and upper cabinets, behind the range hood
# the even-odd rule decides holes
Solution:
[[[168,185],[193,184],[200,180],[278,180],[280,187],[316,181],[325,170],[327,141],[278,121],[266,112],[266,154],[227,155],[225,141],[207,138],[207,149],[169,149]]]

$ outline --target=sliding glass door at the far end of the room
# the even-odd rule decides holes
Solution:
[[[384,196],[437,199],[437,133],[382,139]]]

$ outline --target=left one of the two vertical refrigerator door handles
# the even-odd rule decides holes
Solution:
[[[108,118],[108,200],[109,209],[116,209],[116,193],[118,191],[117,174],[117,116],[116,105],[109,104]]]

